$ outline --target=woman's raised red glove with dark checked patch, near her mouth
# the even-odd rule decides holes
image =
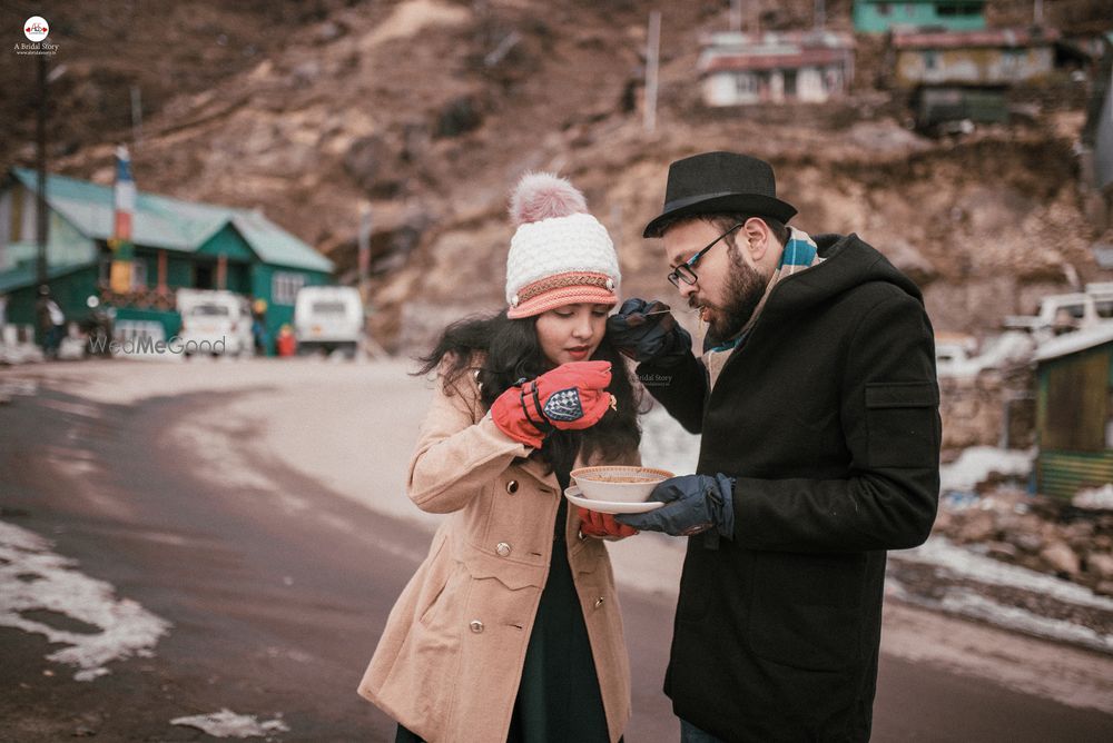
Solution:
[[[572,361],[511,387],[491,406],[502,433],[533,448],[553,428],[579,430],[599,423],[611,406],[610,361]]]

